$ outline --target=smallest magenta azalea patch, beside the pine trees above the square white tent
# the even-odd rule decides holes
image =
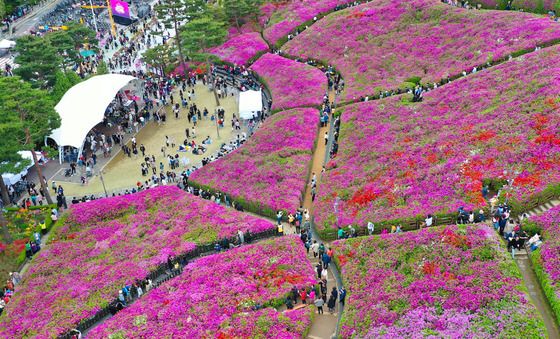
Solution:
[[[268,45],[258,32],[234,35],[210,52],[235,65],[246,65],[258,53],[268,50]]]

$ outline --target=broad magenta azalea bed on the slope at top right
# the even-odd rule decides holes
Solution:
[[[438,1],[374,1],[330,14],[283,46],[341,72],[345,99],[410,87],[560,38],[548,18],[472,11]]]

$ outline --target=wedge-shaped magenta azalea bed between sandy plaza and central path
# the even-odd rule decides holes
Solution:
[[[241,148],[195,171],[189,182],[225,192],[252,212],[293,212],[307,183],[318,124],[312,108],[276,113]]]

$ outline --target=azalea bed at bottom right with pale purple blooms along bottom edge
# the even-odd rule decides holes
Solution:
[[[486,225],[336,241],[343,338],[544,338],[521,274]]]

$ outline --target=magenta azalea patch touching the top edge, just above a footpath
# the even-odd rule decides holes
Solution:
[[[275,44],[281,38],[292,33],[292,31],[306,21],[312,20],[319,14],[335,9],[338,5],[344,5],[352,0],[292,0],[280,3],[268,2],[261,6],[261,21],[269,20],[264,30],[266,40]]]

